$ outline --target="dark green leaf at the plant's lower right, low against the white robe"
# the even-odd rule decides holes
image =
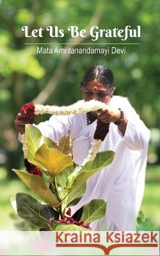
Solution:
[[[93,199],[89,204],[83,205],[80,221],[89,224],[94,220],[102,220],[106,214],[107,202],[104,199]]]

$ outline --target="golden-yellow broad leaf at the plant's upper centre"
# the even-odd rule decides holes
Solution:
[[[36,165],[48,170],[54,175],[73,164],[70,156],[63,154],[54,148],[47,148],[47,145],[45,144],[36,151],[34,161]]]

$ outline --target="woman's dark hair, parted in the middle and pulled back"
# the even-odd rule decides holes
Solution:
[[[80,83],[80,86],[86,86],[88,82],[93,81],[94,79],[97,79],[101,83],[109,86],[112,92],[114,85],[114,76],[113,72],[111,72],[109,68],[104,66],[93,66],[92,68],[88,69],[83,77],[83,81]]]

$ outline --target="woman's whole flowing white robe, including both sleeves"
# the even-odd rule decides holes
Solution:
[[[83,101],[82,101],[83,102]],[[107,230],[114,223],[118,230],[134,230],[145,188],[145,168],[150,132],[140,120],[129,101],[113,96],[109,106],[122,108],[128,118],[124,136],[118,126],[111,123],[109,132],[99,151],[115,151],[115,159],[87,181],[87,193],[72,207],[72,214],[92,199],[103,198],[108,202],[103,220],[93,221],[93,230]],[[97,121],[86,124],[86,115],[51,116],[37,125],[51,140],[70,134],[73,140],[74,162],[81,164],[88,155]]]

